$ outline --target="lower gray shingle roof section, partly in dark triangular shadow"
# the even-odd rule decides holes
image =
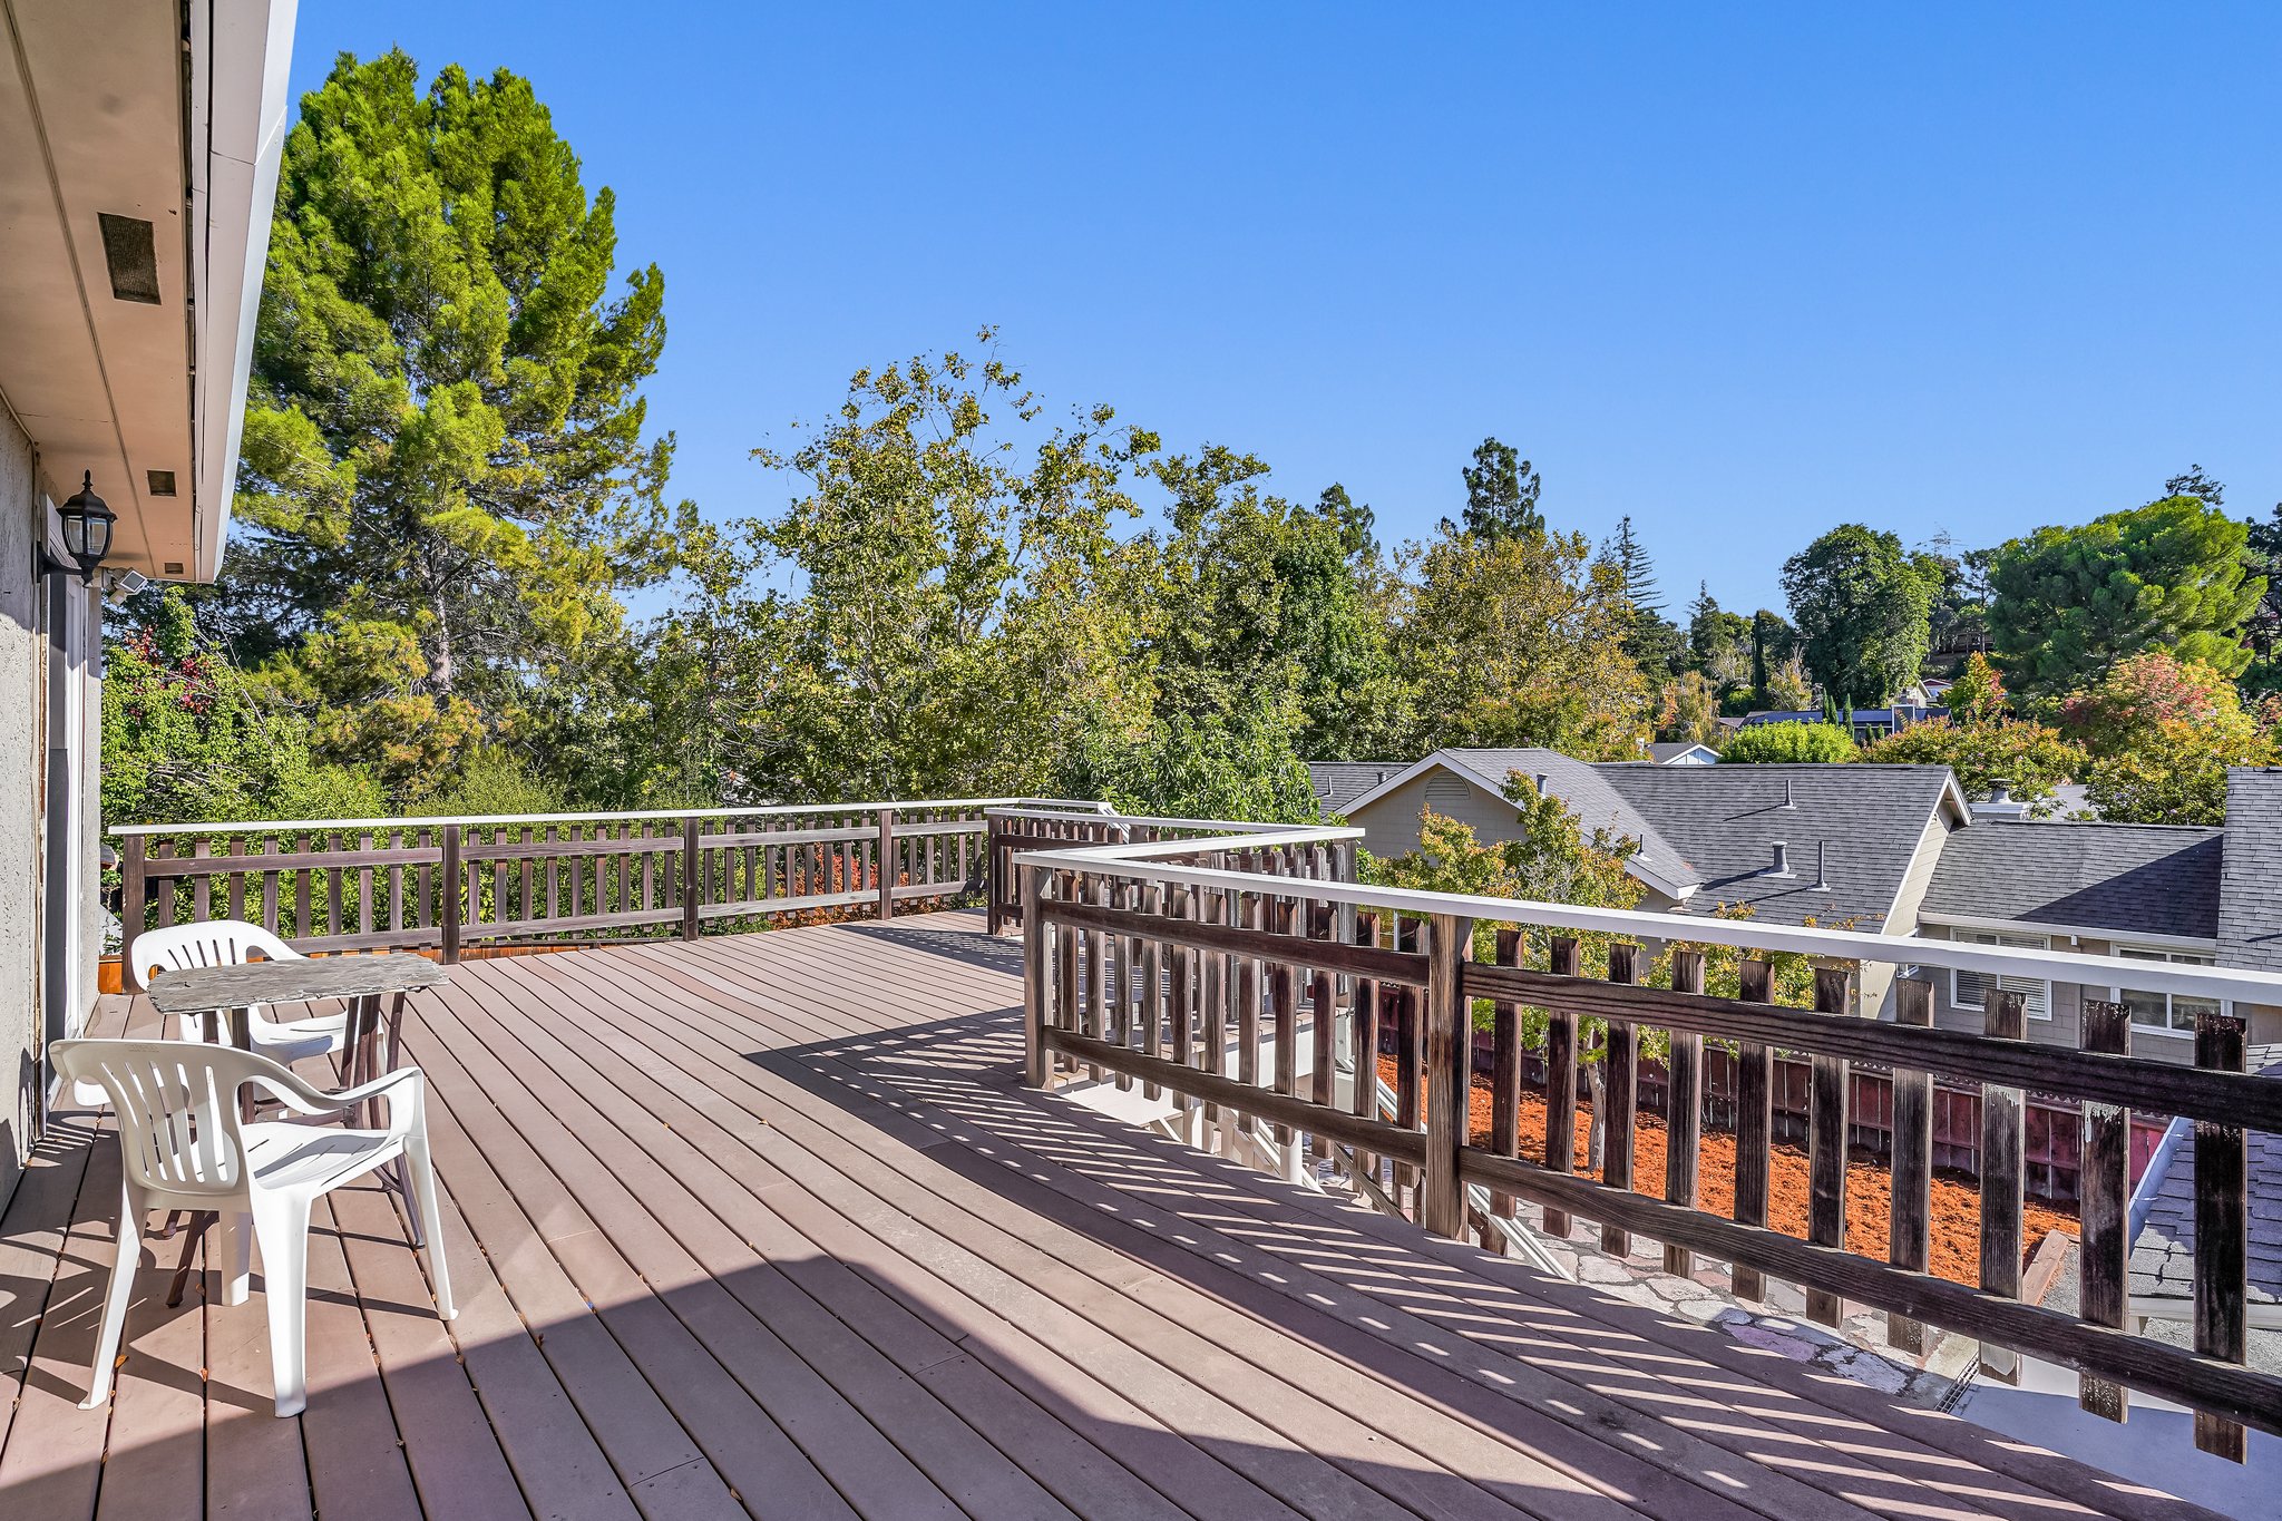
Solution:
[[[1942,848],[1919,912],[2218,935],[2230,855],[2216,828],[1983,819]]]

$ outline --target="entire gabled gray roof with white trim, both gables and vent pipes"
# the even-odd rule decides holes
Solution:
[[[1885,928],[1926,825],[1942,812],[1969,819],[1947,766],[1643,766],[1536,748],[1435,750],[1344,812],[1438,766],[1490,794],[1515,771],[1545,778],[1584,828],[1638,841],[1627,869],[1664,896],[1689,912],[1748,903],[1771,924]],[[1775,841],[1789,853],[1785,876],[1771,871]],[[1816,846],[1828,846],[1821,882]]]

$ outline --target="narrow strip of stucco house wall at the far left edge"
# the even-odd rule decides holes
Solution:
[[[46,789],[41,588],[32,440],[0,410],[0,1199],[16,1188],[39,1115],[39,819]]]

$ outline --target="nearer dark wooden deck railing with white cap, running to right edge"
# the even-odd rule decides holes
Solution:
[[[2010,994],[1990,999],[1985,1033],[1933,1028],[1926,981],[1899,983],[1899,1019],[1862,1019],[1844,1012],[1862,962],[2097,978],[2074,965],[2081,958],[2052,951],[1748,921],[1684,921],[1689,942],[1737,951],[1739,997],[1705,994],[1700,949],[1670,951],[1670,985],[1650,987],[1645,951],[1680,940],[1670,917],[1358,887],[1328,864],[1330,846],[1351,837],[1180,839],[1164,846],[1173,860],[1152,860],[1148,848],[1018,853],[1027,1081],[1139,1083],[1203,1124],[1264,1126],[1280,1145],[1344,1165],[1442,1236],[1492,1238],[1490,1222],[1470,1215],[1467,1190],[1479,1186],[1495,1213],[1511,1215],[1518,1199],[1543,1206],[1554,1234],[1591,1220],[1613,1252],[1652,1238],[1675,1272],[1698,1256],[1730,1263],[1746,1300],[1762,1298],[1773,1277],[1803,1286],[1810,1316],[1823,1323],[1837,1323],[1848,1300],[1883,1309],[1903,1350],[1921,1348],[1921,1327],[1937,1325],[1981,1339],[1997,1377],[2017,1368],[2013,1352],[2067,1364],[2081,1373],[2086,1409],[2120,1421],[2125,1386],[2177,1400],[2198,1412],[2195,1443],[2234,1459],[2245,1425],[2282,1434],[2282,1377],[2245,1366],[2245,1131],[2282,1129],[2282,1083],[2243,1072],[2241,1019],[2202,1015],[2195,1067],[2134,1058],[2118,1003],[2086,1008],[2083,1049],[2029,1042]],[[1476,960],[1476,924],[1536,926],[1540,965],[1522,965],[1518,928]],[[1584,935],[1607,946],[1604,967],[1584,965]],[[1771,951],[1823,958],[1812,1010],[1771,1001]],[[2166,976],[2177,981],[2166,990],[2211,1001],[2282,1001],[2282,978],[2261,974],[2182,967]],[[1543,1028],[1543,1163],[1520,1154],[1518,1136],[1524,1010]],[[1490,1033],[1486,1131],[1470,1122],[1479,1024]],[[1381,1049],[1381,1031],[1397,1065],[1392,1115],[1381,1111],[1367,1056]],[[1650,1031],[1668,1042],[1664,1177],[1634,1165]],[[1737,1181],[1725,1215],[1700,1209],[1696,1188],[1705,1042],[1730,1049],[1737,1069]],[[1805,1238],[1769,1227],[1778,1054],[1807,1063]],[[1342,1056],[1356,1079],[1342,1081]],[[1572,1145],[1581,1056],[1597,1067],[1607,1120],[1597,1179],[1579,1174]],[[1883,1256],[1848,1250],[1844,1238],[1858,1063],[1885,1069],[1892,1085],[1894,1206]],[[1981,1095],[1976,1284],[1928,1272],[1935,1079]],[[2079,1313],[2020,1300],[2024,1090],[2058,1095],[2081,1115]],[[2125,1329],[2134,1111],[2195,1122],[2193,1350]]]

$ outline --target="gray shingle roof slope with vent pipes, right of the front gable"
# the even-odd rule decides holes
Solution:
[[[1769,924],[1887,928],[1949,766],[1597,766],[1689,864],[1686,912],[1743,905]],[[1967,830],[1969,832],[1969,830]],[[1789,876],[1769,876],[1775,841]],[[1953,841],[1951,841],[1953,844]],[[1816,887],[1816,846],[1826,887]]]

